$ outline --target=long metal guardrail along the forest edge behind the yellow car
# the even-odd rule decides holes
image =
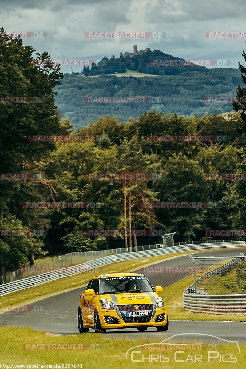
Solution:
[[[39,284],[50,282],[52,280],[83,273],[91,269],[98,268],[99,266],[108,265],[108,264],[115,263],[118,261],[129,260],[129,259],[139,259],[139,258],[144,258],[146,256],[173,254],[175,252],[182,252],[182,251],[211,249],[213,247],[217,248],[217,247],[238,247],[238,246],[245,246],[245,242],[244,241],[221,242],[221,244],[216,242],[214,244],[206,243],[206,244],[185,245],[185,246],[184,245],[183,246],[172,246],[172,247],[159,248],[159,249],[148,250],[148,251],[137,251],[137,252],[130,252],[130,253],[125,253],[125,254],[109,255],[109,256],[105,256],[104,258],[92,260],[92,261],[89,261],[83,264],[71,266],[68,268],[62,268],[59,270],[51,271],[49,273],[44,273],[41,275],[32,276],[29,278],[3,284],[0,286],[0,296],[9,294],[11,292],[20,291],[22,289],[26,289],[29,287],[38,286]]]

